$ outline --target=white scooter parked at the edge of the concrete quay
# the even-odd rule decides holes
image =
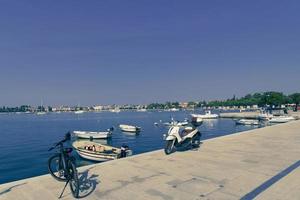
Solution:
[[[168,155],[178,147],[198,147],[200,145],[201,133],[195,127],[172,126],[168,135],[164,135],[166,140],[165,153]]]

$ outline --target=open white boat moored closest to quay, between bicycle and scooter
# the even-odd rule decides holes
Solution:
[[[90,141],[75,141],[72,146],[80,157],[98,162],[115,160],[132,155],[132,151],[127,146],[116,148]]]

